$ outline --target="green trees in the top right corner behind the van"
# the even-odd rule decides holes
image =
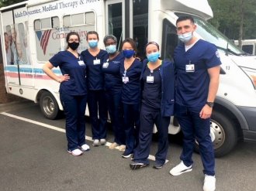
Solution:
[[[213,19],[209,22],[228,38],[239,39],[241,35],[242,39],[256,39],[255,0],[209,0],[208,2],[213,9]]]

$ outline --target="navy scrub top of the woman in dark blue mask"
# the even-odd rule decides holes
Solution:
[[[142,70],[142,63],[135,59],[128,70],[124,70],[124,63],[120,66],[120,76],[129,77],[129,82],[123,83],[122,88],[122,102],[124,104],[140,104],[140,73]]]

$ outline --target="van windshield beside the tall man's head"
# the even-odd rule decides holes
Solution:
[[[184,15],[181,13],[176,13],[176,15]],[[220,31],[218,31],[214,26],[209,24],[199,17],[193,16],[195,24],[197,26],[196,32],[202,39],[206,39],[209,43],[213,43],[218,49],[222,49],[231,54],[241,55],[246,54],[243,50],[239,49],[230,39],[224,36]]]

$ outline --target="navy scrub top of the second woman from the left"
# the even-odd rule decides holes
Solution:
[[[103,90],[104,75],[102,73],[102,64],[108,59],[108,53],[106,50],[100,49],[98,55],[92,56],[86,49],[81,52],[81,56],[87,67],[88,90]],[[98,60],[98,62],[94,60]]]

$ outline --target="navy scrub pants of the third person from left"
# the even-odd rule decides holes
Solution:
[[[112,129],[114,131],[114,142],[119,145],[125,145],[125,133],[123,129],[123,108],[121,102],[121,90],[113,92],[106,90],[106,100],[108,104],[109,115],[111,119]]]

